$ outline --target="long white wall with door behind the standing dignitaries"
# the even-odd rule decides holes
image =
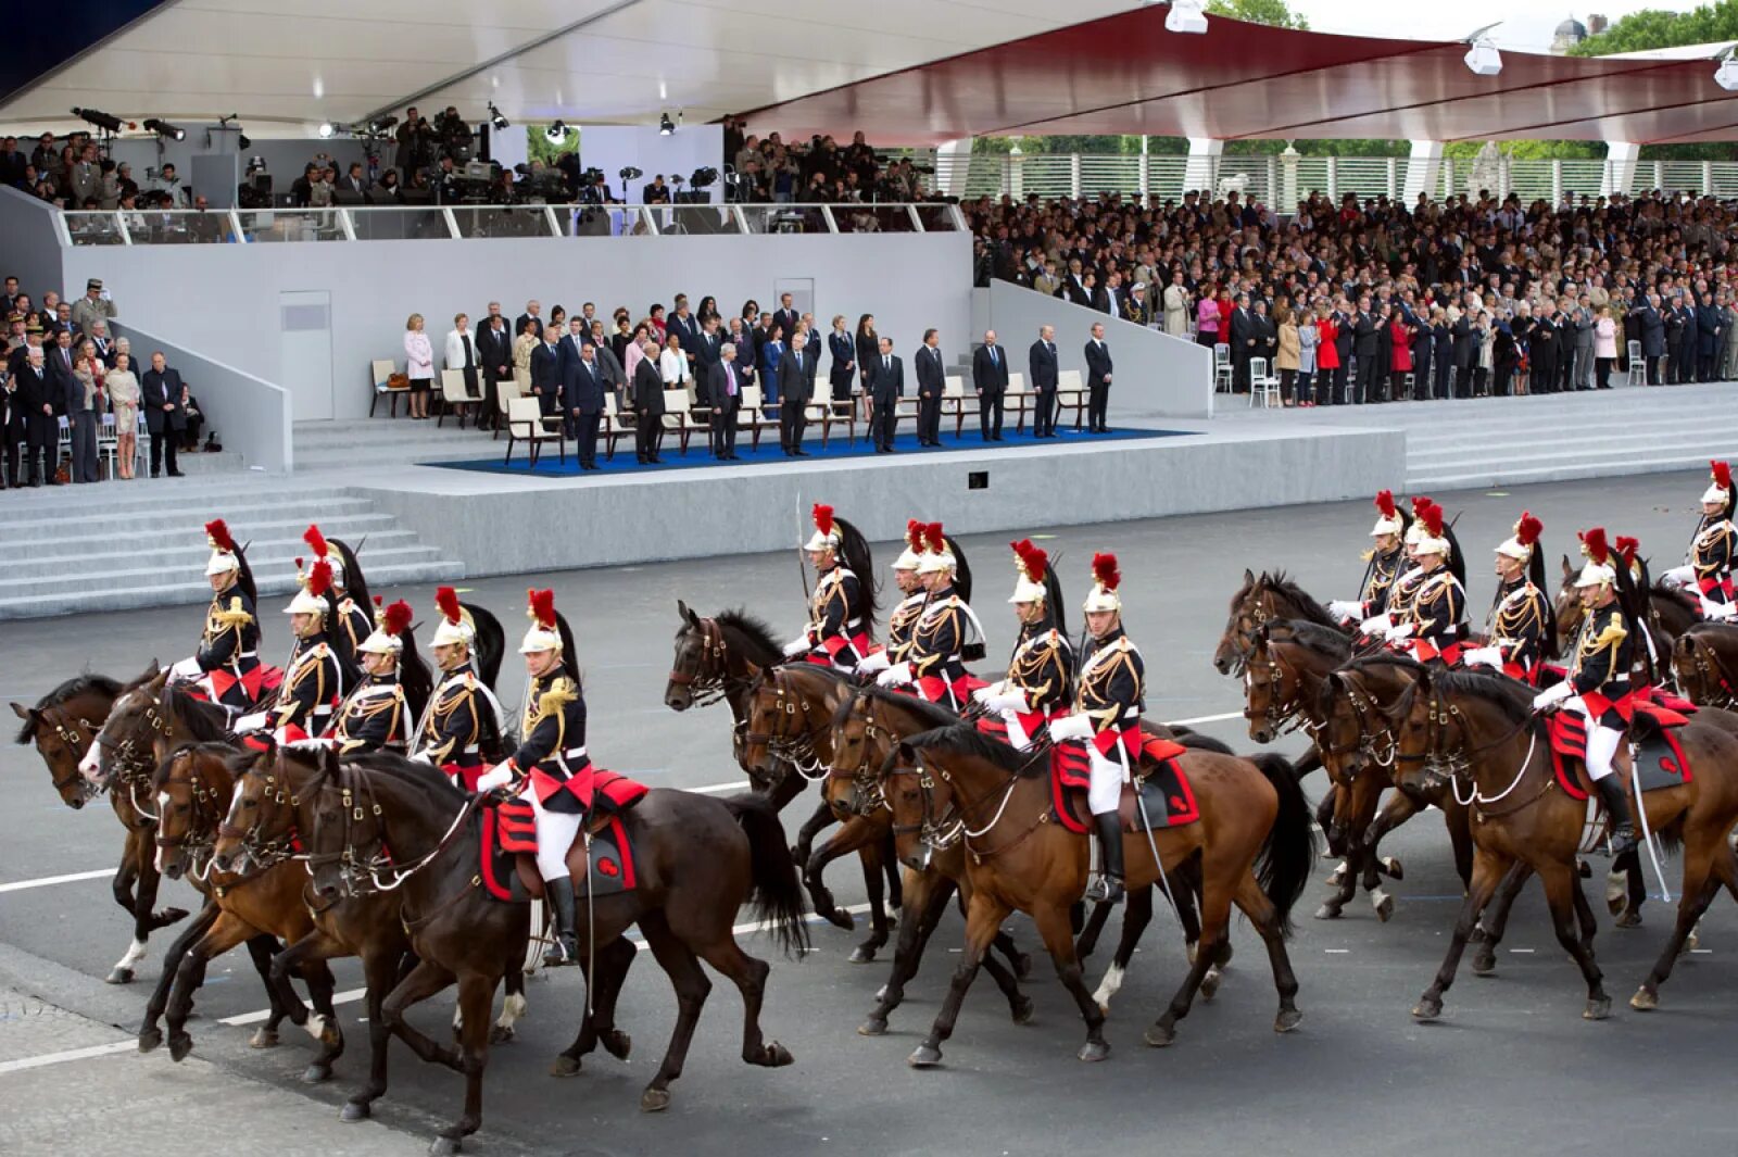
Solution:
[[[330,290],[337,419],[368,413],[372,358],[403,367],[410,313],[428,320],[438,358],[452,316],[462,309],[474,323],[490,299],[507,318],[530,297],[544,316],[593,301],[603,318],[617,304],[640,318],[680,290],[695,302],[716,295],[728,318],[746,297],[773,307],[780,280],[812,278],[822,330],[834,313],[855,325],[867,311],[902,351],[932,325],[949,361],[970,347],[965,233],[82,247],[64,250],[64,268],[68,287],[103,278],[129,323],[292,393],[297,384],[280,377],[278,295]]]

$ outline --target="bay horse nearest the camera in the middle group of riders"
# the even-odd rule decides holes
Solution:
[[[864,695],[890,698],[879,688]],[[1107,1058],[1105,1015],[1083,983],[1069,929],[1069,909],[1086,886],[1088,841],[1053,822],[1048,750],[1020,752],[952,719],[944,709],[911,705],[932,712],[935,726],[902,740],[881,766],[893,834],[907,862],[918,855],[919,837],[932,846],[958,841],[966,853],[972,895],[965,959],[930,1035],[909,1063],[916,1068],[940,1063],[940,1046],[952,1035],[984,954],[1003,917],[1013,910],[1032,917],[1058,978],[1079,1006],[1086,1023],[1079,1060]],[[1123,846],[1131,888],[1159,883],[1185,860],[1199,860],[1201,947],[1177,995],[1144,1039],[1154,1048],[1175,1041],[1177,1021],[1189,1013],[1217,959],[1232,903],[1267,945],[1279,992],[1274,1030],[1291,1032],[1302,1013],[1284,942],[1291,931],[1291,907],[1316,856],[1304,792],[1291,764],[1279,756],[1241,759],[1187,750],[1178,759],[1194,787],[1201,818],[1151,837],[1124,836]],[[973,830],[973,825],[980,827]]]

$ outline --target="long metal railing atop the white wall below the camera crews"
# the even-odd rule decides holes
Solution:
[[[963,233],[956,205],[381,205],[59,214],[63,245],[269,245],[693,233]]]

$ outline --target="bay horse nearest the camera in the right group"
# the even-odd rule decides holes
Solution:
[[[1587,982],[1583,1016],[1611,1011],[1594,962],[1594,914],[1575,867],[1587,817],[1585,801],[1557,783],[1545,723],[1531,709],[1533,690],[1502,676],[1420,669],[1413,688],[1396,704],[1397,778],[1444,780],[1467,797],[1476,817],[1474,872],[1443,968],[1420,997],[1413,1016],[1436,1020],[1443,994],[1481,909],[1516,863],[1538,874],[1550,905],[1557,942]],[[1632,735],[1648,723],[1632,724]],[[1684,844],[1682,898],[1670,942],[1630,999],[1637,1009],[1658,1006],[1658,987],[1672,971],[1689,933],[1724,884],[1738,898],[1738,856],[1726,836],[1738,823],[1738,738],[1721,726],[1691,719],[1677,740],[1695,775],[1688,783],[1634,792],[1630,752],[1620,747],[1615,768],[1625,777],[1630,806],[1649,832],[1668,846]],[[1585,771],[1580,771],[1585,787]],[[1580,924],[1580,935],[1576,935]]]

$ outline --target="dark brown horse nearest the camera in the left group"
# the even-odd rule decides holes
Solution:
[[[431,1147],[434,1154],[454,1154],[481,1126],[488,1006],[502,975],[525,957],[528,905],[492,900],[480,886],[480,796],[468,796],[398,756],[339,761],[332,752],[322,754],[320,775],[308,794],[315,896],[332,902],[346,891],[403,889],[403,921],[419,962],[386,997],[381,1016],[424,1061],[464,1074],[464,1112]],[[669,1084],[681,1075],[711,990],[702,959],[742,992],[742,1060],[768,1068],[789,1065],[791,1053],[765,1041],[760,1028],[768,966],[746,955],[732,931],[737,909],[749,902],[786,952],[806,945],[801,888],[766,797],[650,790],[620,820],[631,839],[636,883],[633,889],[579,905],[579,943],[587,945],[580,964],[593,1008],[551,1072],[579,1074],[580,1058],[598,1042],[619,1058],[627,1056],[631,1041],[614,1027],[614,1015],[638,955],[622,936],[633,924],[669,975],[678,999],[669,1051],[640,1098],[641,1110],[669,1107]],[[587,870],[586,855],[584,841],[568,853],[570,869],[580,876]],[[462,1035],[457,1048],[443,1048],[410,1027],[405,1009],[455,982]],[[384,1079],[370,1082],[346,1105],[346,1119],[367,1117],[381,1093]]]

